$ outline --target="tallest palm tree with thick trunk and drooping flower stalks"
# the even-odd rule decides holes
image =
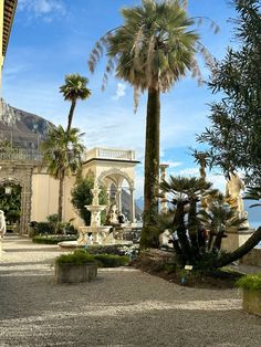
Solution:
[[[143,0],[142,6],[123,9],[124,24],[107,32],[91,53],[88,66],[94,72],[105,48],[107,74],[134,87],[135,108],[138,93],[147,91],[144,230],[155,223],[158,213],[160,93],[191,71],[199,75],[195,54],[205,52],[199,35],[191,29],[186,1]],[[148,244],[149,245],[149,244]]]

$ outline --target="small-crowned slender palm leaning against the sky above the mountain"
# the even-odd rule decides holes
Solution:
[[[65,76],[65,84],[60,87],[60,93],[63,94],[65,101],[71,102],[71,107],[67,116],[69,133],[72,126],[73,113],[79,99],[86,99],[91,96],[92,92],[86,87],[88,80],[79,74],[71,74]]]

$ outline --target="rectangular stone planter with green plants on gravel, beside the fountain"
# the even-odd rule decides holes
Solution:
[[[56,283],[86,282],[97,276],[97,264],[92,254],[84,250],[62,254],[55,259]]]

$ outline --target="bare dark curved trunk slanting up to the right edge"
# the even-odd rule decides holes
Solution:
[[[240,257],[249,253],[260,241],[261,241],[261,227],[259,227],[259,229],[239,249],[219,259],[215,263],[215,266],[222,267],[239,260]]]

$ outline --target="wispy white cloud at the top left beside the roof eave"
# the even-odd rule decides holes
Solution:
[[[66,12],[62,0],[20,0],[18,9],[45,20],[52,20],[56,14],[64,15]]]

